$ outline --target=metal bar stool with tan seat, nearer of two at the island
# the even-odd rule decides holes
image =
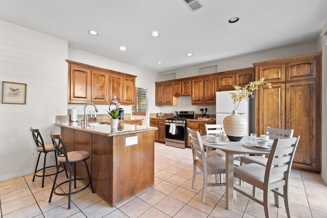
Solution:
[[[67,152],[61,135],[55,135],[55,134],[52,134],[50,132],[50,137],[51,137],[52,143],[53,143],[53,145],[54,145],[54,147],[56,149],[59,165],[57,166],[57,172],[56,172],[55,180],[53,182],[49,203],[51,202],[53,193],[55,193],[55,195],[59,195],[59,196],[68,196],[68,209],[71,209],[71,196],[72,196],[72,194],[75,194],[75,193],[78,193],[78,192],[84,190],[89,185],[91,185],[92,193],[94,193],[94,189],[93,189],[93,185],[92,185],[92,179],[91,179],[90,173],[88,171],[87,163],[86,163],[86,160],[90,157],[90,154],[87,151]],[[58,139],[58,143],[57,143],[56,139]],[[81,161],[83,161],[85,163],[88,179],[76,178],[76,163],[81,162]],[[60,164],[69,164],[69,166],[70,166],[69,167],[69,180],[64,181],[64,182],[56,185]],[[74,179],[72,179],[72,166],[73,166],[73,164],[74,164]],[[76,188],[76,180],[85,180],[88,183],[83,188],[72,192],[72,180],[74,180],[74,188]],[[58,192],[56,192],[56,189],[58,187],[60,187],[60,185],[62,185],[64,183],[67,183],[67,182],[69,182],[68,193],[58,193]]]

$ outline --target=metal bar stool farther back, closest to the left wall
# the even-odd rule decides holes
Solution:
[[[36,166],[35,166],[34,175],[33,175],[33,180],[32,181],[34,182],[34,179],[35,179],[36,176],[42,177],[42,188],[43,188],[44,187],[44,177],[45,176],[52,176],[52,175],[55,175],[56,174],[56,173],[53,173],[53,174],[47,174],[47,175],[45,175],[45,169],[46,168],[50,168],[50,167],[56,167],[57,168],[57,166],[58,166],[57,156],[56,156],[56,152],[55,152],[55,147],[53,146],[53,144],[44,144],[43,138],[42,138],[42,136],[40,134],[40,131],[38,129],[33,129],[31,127],[30,130],[32,132],[33,139],[35,141],[35,144],[36,144],[36,147],[37,147],[37,151],[39,152],[39,155],[38,155],[38,158],[37,158],[37,162],[36,162]],[[54,152],[55,153],[56,165],[53,165],[53,166],[45,166],[45,163],[46,163],[46,155],[49,152]],[[37,169],[38,164],[39,164],[41,153],[44,154],[43,168]],[[40,171],[42,171],[42,175],[37,175],[37,173],[40,172]],[[65,171],[66,172],[66,177],[68,178],[68,174],[67,174],[67,171],[66,171],[66,167],[65,166],[64,166],[64,168],[59,173],[61,173],[62,171]]]

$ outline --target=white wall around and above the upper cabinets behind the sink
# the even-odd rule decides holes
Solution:
[[[160,74],[151,70],[147,70],[141,67],[132,66],[130,64],[122,63],[119,61],[111,60],[104,58],[98,55],[87,53],[81,50],[74,49],[73,47],[68,48],[68,60],[76,61],[92,66],[97,66],[101,68],[111,69],[115,71],[125,72],[126,74],[135,75],[136,77],[136,86],[143,87],[148,89],[148,106],[149,110],[147,111],[147,116],[137,116],[138,118],[144,118],[143,125],[149,126],[149,113],[159,112],[159,107],[155,106],[155,85],[154,82],[158,81]],[[109,105],[96,105],[99,109],[99,113],[107,113]],[[84,104],[68,104],[68,109],[77,108],[78,114],[83,114]],[[125,113],[131,113],[131,106],[121,105],[121,108],[124,108]],[[94,110],[92,106],[87,106],[86,111]],[[133,116],[136,118],[136,116]]]

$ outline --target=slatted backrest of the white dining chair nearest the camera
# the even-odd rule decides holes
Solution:
[[[293,138],[276,138],[272,144],[271,152],[265,172],[265,185],[269,186],[270,176],[280,174],[288,183],[294,153],[296,151],[300,136]]]

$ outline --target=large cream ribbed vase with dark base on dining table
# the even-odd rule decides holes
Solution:
[[[230,141],[241,141],[246,132],[246,118],[237,114],[236,110],[223,121],[225,133]]]

